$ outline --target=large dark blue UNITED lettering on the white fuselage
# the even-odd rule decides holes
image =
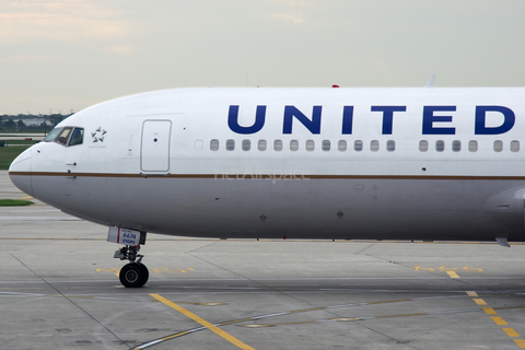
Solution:
[[[228,126],[235,133],[250,135],[262,129],[266,122],[267,106],[258,105],[255,113],[255,121],[252,126],[241,126],[238,124],[238,105],[231,105],[228,113]],[[382,112],[382,135],[392,135],[394,125],[394,113],[407,112],[407,106],[372,106],[371,112]],[[453,115],[456,106],[423,106],[422,114],[422,135],[455,135],[456,128],[453,126]],[[487,126],[487,114],[499,113],[503,116],[503,124],[495,127]],[[294,119],[306,128],[312,135],[320,133],[323,106],[313,106],[312,117],[292,105],[284,106],[282,133],[290,135],[293,131]],[[353,127],[353,106],[342,106],[342,135],[351,135]],[[475,135],[501,135],[510,131],[515,124],[516,116],[514,112],[504,106],[476,106],[475,113]],[[295,122],[296,125],[298,122]]]

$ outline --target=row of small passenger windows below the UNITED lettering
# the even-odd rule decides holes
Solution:
[[[257,150],[259,151],[266,151],[268,149],[268,142],[266,140],[258,140],[257,141]],[[284,149],[284,142],[282,140],[275,140],[273,141],[273,151],[282,151]],[[351,145],[350,145],[351,147]],[[355,140],[353,141],[353,150],[357,152],[361,152],[364,149],[364,142],[362,140]],[[219,151],[220,148],[220,142],[217,139],[213,139],[210,141],[210,150],[211,151]],[[347,151],[349,148],[349,144],[347,143],[346,140],[339,140],[337,142],[337,150],[340,152]],[[421,140],[419,141],[419,151],[420,152],[428,152],[431,148],[433,148],[436,152],[443,152],[447,148],[445,141],[443,140],[438,140],[435,141],[434,144],[431,144],[431,142],[427,140]],[[451,144],[451,150],[453,152],[460,152],[462,151],[462,141],[459,140],[454,140],[452,141]],[[234,151],[235,150],[235,140],[226,140],[225,142],[225,149],[226,151]],[[252,150],[252,141],[250,140],[243,140],[241,142],[241,149],[243,151],[249,151]],[[299,140],[290,140],[289,144],[290,151],[299,151],[300,149],[300,142]],[[315,141],[314,140],[306,140],[304,144],[304,149],[308,152],[312,152],[315,150]],[[331,142],[330,140],[323,140],[320,142],[320,149],[325,152],[331,150]],[[388,140],[386,141],[386,151],[388,152],[394,152],[396,150],[396,141],[394,140]],[[468,141],[467,149],[469,152],[477,152],[478,151],[478,141],[476,140],[470,140]],[[504,149],[503,147],[503,141],[501,140],[495,140],[493,142],[493,150],[494,152],[502,152]],[[372,152],[377,152],[380,151],[380,141],[378,140],[372,140],[370,141],[370,150]],[[518,152],[520,151],[520,141],[513,140],[510,143],[510,150],[511,152]]]

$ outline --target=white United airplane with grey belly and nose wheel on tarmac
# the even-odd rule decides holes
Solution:
[[[11,164],[13,184],[109,228],[219,238],[524,242],[524,88],[195,88],[108,101]]]

